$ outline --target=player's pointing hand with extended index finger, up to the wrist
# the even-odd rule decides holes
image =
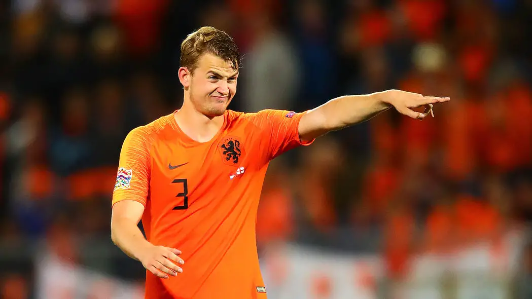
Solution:
[[[404,115],[413,119],[423,119],[429,113],[434,117],[433,105],[436,103],[444,103],[451,100],[449,97],[423,96],[421,94],[405,92],[403,90],[390,89],[384,93],[384,101],[394,106],[395,109]],[[425,107],[423,112],[416,112],[412,109],[418,107]]]

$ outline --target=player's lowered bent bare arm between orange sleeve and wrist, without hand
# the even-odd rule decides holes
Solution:
[[[120,201],[113,205],[111,215],[111,239],[130,258],[140,261],[144,248],[153,246],[138,228],[144,213],[144,205],[136,201]]]

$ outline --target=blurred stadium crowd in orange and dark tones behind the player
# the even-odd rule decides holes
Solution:
[[[120,147],[180,106],[180,41],[211,25],[245,55],[233,110],[452,97],[272,162],[270,297],[532,298],[531,20],[529,0],[1,1],[0,297],[142,294],[110,239]]]

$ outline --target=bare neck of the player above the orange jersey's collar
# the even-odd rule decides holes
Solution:
[[[181,131],[193,140],[202,143],[211,140],[223,126],[223,115],[209,117],[197,111],[187,97],[181,109],[174,114],[174,118]]]

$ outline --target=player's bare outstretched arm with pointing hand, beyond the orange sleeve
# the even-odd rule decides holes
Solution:
[[[423,119],[433,104],[449,100],[448,97],[423,96],[395,89],[368,95],[341,96],[305,113],[298,130],[303,142],[313,140],[327,132],[368,120],[390,107],[411,118]],[[427,106],[426,113],[412,110],[420,106]]]

